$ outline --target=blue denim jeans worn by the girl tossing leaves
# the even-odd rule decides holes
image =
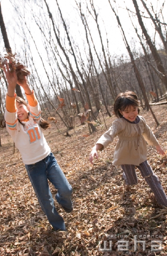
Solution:
[[[48,180],[58,190],[55,196],[57,202],[68,209],[72,208],[72,186],[68,183],[54,155],[50,153],[46,158],[36,164],[26,164],[26,170],[38,202],[50,224],[55,230],[66,230],[64,220],[54,206]]]

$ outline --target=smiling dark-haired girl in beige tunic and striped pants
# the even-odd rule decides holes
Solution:
[[[93,157],[98,159],[97,150],[106,148],[117,136],[113,164],[121,166],[123,178],[127,185],[137,184],[135,166],[153,191],[157,202],[167,206],[167,196],[161,182],[154,174],[147,162],[147,145],[153,145],[157,151],[165,155],[151,128],[145,119],[139,116],[139,101],[134,92],[126,91],[118,94],[114,103],[114,113],[118,117],[107,132],[105,132],[92,148],[89,160],[93,164]]]

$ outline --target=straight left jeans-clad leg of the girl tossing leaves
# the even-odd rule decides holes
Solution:
[[[48,185],[46,163],[44,160],[36,164],[26,165],[28,176],[35,190],[38,202],[55,230],[66,230],[63,218],[54,206],[54,200]]]

